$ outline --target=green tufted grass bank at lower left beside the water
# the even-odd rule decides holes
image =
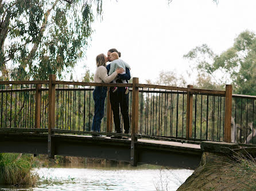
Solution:
[[[33,158],[30,155],[0,153],[0,184],[36,184],[38,176],[32,173]]]

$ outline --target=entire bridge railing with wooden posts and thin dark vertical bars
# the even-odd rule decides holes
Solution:
[[[130,133],[135,137],[255,143],[256,97],[225,91],[133,83],[0,82],[1,128],[53,129],[90,134],[95,86],[128,86]],[[235,124],[235,125],[234,125]],[[121,126],[123,120],[121,115]],[[241,128],[242,127],[242,128]],[[114,133],[109,95],[100,127]],[[51,130],[52,132],[52,130]]]

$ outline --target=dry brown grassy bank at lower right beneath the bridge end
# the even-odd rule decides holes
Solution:
[[[255,158],[241,154],[216,157],[212,164],[200,165],[178,190],[256,190]]]

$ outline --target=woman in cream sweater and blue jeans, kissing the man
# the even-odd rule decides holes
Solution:
[[[117,77],[118,74],[123,73],[122,68],[118,68],[110,76],[107,75],[106,63],[108,59],[106,55],[99,54],[96,57],[96,72],[94,75],[94,82],[96,83],[110,83]],[[104,115],[105,98],[107,95],[107,87],[95,86],[94,97],[94,119],[92,121],[92,132],[100,132],[100,122]]]

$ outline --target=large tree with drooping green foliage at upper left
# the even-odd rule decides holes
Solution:
[[[0,0],[0,78],[61,78],[83,57],[94,14],[102,0]]]

